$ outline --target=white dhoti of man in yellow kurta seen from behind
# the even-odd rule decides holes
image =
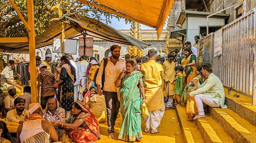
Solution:
[[[144,116],[144,121],[146,125],[145,132],[148,132],[148,130],[150,130],[150,127],[154,132],[157,132],[157,127],[160,125],[161,119],[164,116],[164,108],[155,111],[149,111],[150,116]]]

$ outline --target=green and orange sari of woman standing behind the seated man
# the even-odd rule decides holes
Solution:
[[[190,64],[192,62],[195,62],[194,66],[186,67],[184,69],[185,74],[187,76],[187,84],[190,83],[190,81],[193,80],[194,77],[196,77],[196,56],[194,54],[191,54],[186,58],[184,65]]]

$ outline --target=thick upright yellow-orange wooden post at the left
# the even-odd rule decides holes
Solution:
[[[29,31],[29,59],[30,59],[30,82],[31,82],[31,102],[37,103],[36,84],[36,42],[35,42],[35,20],[33,0],[27,0],[27,22],[31,30]]]

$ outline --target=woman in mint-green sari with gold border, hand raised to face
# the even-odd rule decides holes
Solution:
[[[118,139],[133,142],[141,140],[141,95],[142,103],[146,103],[144,92],[144,75],[135,71],[135,62],[128,60],[126,70],[119,74],[115,86],[120,87],[120,112],[122,127]]]

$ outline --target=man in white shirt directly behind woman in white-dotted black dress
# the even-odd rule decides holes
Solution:
[[[72,66],[75,67],[76,69],[76,82],[74,83],[74,101],[78,100],[78,89],[79,85],[81,84],[81,70],[80,70],[80,65],[76,62],[73,61],[73,57],[71,55],[68,55],[68,60],[72,64]]]

